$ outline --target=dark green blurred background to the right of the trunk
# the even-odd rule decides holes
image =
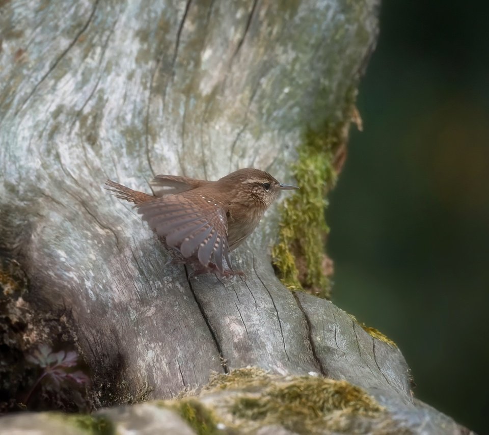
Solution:
[[[328,251],[333,302],[398,344],[416,396],[489,433],[489,3],[475,3],[383,2]]]

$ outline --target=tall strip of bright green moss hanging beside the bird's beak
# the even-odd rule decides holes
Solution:
[[[334,153],[344,142],[342,129],[331,124],[309,130],[298,147],[292,174],[300,188],[281,205],[279,240],[272,250],[282,283],[290,290],[307,290],[329,298],[331,262],[325,256],[328,226],[326,195],[336,181]]]

